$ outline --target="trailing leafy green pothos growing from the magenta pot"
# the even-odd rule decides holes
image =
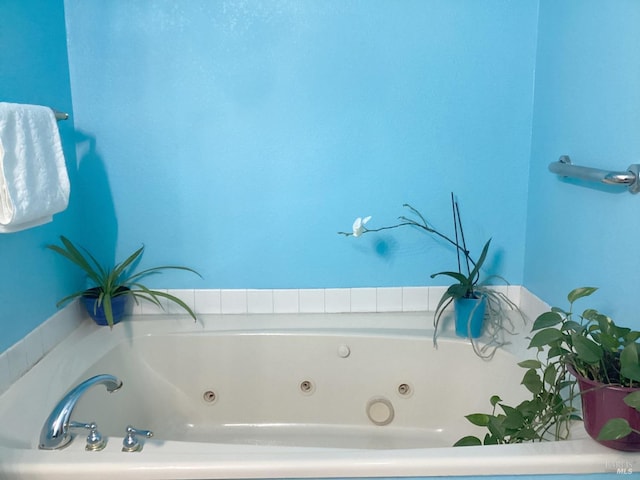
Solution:
[[[466,436],[456,446],[563,440],[573,420],[580,420],[575,373],[603,385],[640,387],[640,332],[617,326],[595,309],[582,314],[573,311],[574,302],[594,293],[581,287],[567,296],[569,310],[554,307],[533,324],[529,349],[536,358],[518,365],[526,371],[522,384],[531,398],[518,405],[503,403],[498,395],[489,399],[491,413],[473,413],[466,418],[486,427],[483,439]],[[624,402],[640,411],[640,391],[631,392]],[[624,438],[632,428],[624,418],[612,418],[597,433],[598,441]]]

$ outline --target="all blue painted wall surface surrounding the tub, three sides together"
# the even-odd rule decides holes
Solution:
[[[551,303],[600,286],[596,306],[634,321],[638,197],[547,165],[637,161],[637,2],[243,5],[0,2],[2,99],[75,119],[70,209],[0,237],[0,348],[79,284],[43,249],[60,233],[205,277],[158,286],[428,285],[452,266],[442,245],[335,232],[403,202],[447,229],[451,190],[472,249],[494,239],[490,271]]]

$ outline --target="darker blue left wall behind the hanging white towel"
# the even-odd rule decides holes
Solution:
[[[62,0],[0,0],[0,101],[49,105],[71,112]],[[77,224],[72,121],[60,122],[72,181],[70,207],[53,223],[0,234],[0,351],[56,311],[56,301],[76,289],[78,276],[44,245]]]

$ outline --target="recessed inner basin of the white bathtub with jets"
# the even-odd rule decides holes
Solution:
[[[110,373],[73,417],[107,436],[131,424],[158,441],[298,447],[448,447],[478,434],[464,415],[526,397],[515,357],[490,362],[426,331],[236,331],[123,339],[72,382]],[[70,385],[71,386],[71,385]],[[385,423],[381,425],[381,423]]]

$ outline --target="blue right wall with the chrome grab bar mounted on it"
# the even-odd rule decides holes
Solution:
[[[633,0],[540,2],[524,277],[560,306],[571,288],[598,286],[582,306],[636,328],[640,196],[563,182],[547,166],[563,154],[611,170],[640,161],[638,25]]]

